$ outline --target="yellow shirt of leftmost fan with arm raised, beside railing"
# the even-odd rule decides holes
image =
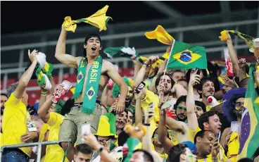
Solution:
[[[24,144],[20,140],[20,136],[29,132],[27,127],[27,118],[30,120],[30,115],[27,115],[27,108],[21,99],[17,99],[12,93],[4,104],[3,116],[3,144]],[[27,156],[32,154],[32,147],[19,148]]]

